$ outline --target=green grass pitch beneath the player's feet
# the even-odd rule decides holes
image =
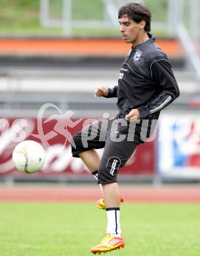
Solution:
[[[121,227],[125,249],[111,255],[200,255],[199,204],[124,203]],[[105,228],[94,203],[1,202],[0,255],[92,255]]]

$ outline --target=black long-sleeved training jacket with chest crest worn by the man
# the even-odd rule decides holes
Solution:
[[[140,119],[157,119],[180,94],[167,55],[155,37],[148,36],[148,41],[132,47],[121,66],[118,85],[108,89],[106,98],[118,98],[120,118],[138,108]]]

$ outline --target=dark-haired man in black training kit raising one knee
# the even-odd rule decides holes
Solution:
[[[98,184],[102,184],[104,192],[106,236],[92,247],[92,253],[125,246],[119,222],[121,196],[117,173],[136,146],[150,137],[151,124],[160,111],[179,96],[169,60],[149,33],[151,12],[139,3],[129,3],[119,9],[119,25],[123,40],[132,44],[130,53],[121,66],[118,85],[113,89],[100,87],[94,93],[94,96],[117,97],[119,114],[90,125],[73,137],[76,145],[72,147],[73,156],[81,158],[94,175],[98,173]],[[146,135],[144,140],[142,132]],[[94,148],[104,148],[101,160]]]

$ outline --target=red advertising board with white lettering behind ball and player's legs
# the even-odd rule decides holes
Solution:
[[[58,115],[57,115],[58,117]],[[43,144],[46,150],[45,165],[38,177],[88,175],[86,167],[79,158],[71,157],[70,136],[83,128],[85,119],[68,117],[50,119],[0,119],[0,177],[9,175],[24,176],[16,171],[12,163],[12,151],[22,140],[30,139]],[[102,154],[102,150],[98,151]],[[153,175],[155,170],[155,142],[146,142],[136,149],[127,165],[121,169],[123,175]],[[29,175],[35,177],[34,175]]]

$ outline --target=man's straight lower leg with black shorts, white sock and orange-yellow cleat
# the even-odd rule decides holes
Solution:
[[[117,173],[125,165],[127,160],[129,160],[136,146],[142,143],[142,141],[138,137],[138,130],[136,130],[134,140],[127,140],[127,137],[125,137],[123,140],[116,141],[115,139],[118,139],[119,135],[123,137],[125,134],[128,135],[127,127],[119,128],[121,129],[118,129],[117,138],[114,137],[116,135],[113,135],[113,137],[107,136],[104,154],[98,168],[98,183],[102,184],[104,191],[108,223],[106,236],[100,244],[91,248],[92,253],[102,253],[125,246],[125,242],[121,236],[119,219],[120,192],[117,184]]]

